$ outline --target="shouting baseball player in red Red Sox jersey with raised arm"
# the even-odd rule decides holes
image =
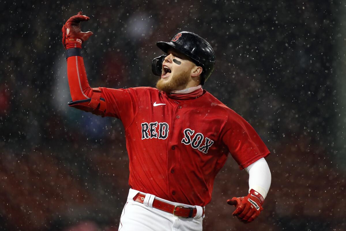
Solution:
[[[156,88],[91,88],[81,56],[93,34],[81,32],[81,21],[88,20],[79,12],[62,28],[68,104],[124,125],[130,190],[119,230],[202,230],[214,179],[229,153],[249,174],[249,194],[227,203],[240,221],[253,221],[271,184],[264,159],[270,152],[250,124],[202,88],[215,64],[210,44],[191,32],[156,43],[166,53],[152,63],[160,76]]]

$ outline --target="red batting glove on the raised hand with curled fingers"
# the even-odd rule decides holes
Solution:
[[[90,19],[82,14],[82,11],[79,11],[77,15],[69,18],[62,28],[63,45],[66,50],[69,48],[82,48],[82,43],[93,34],[91,31],[81,31],[81,21],[89,21]]]

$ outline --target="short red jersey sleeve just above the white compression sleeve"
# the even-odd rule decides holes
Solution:
[[[222,141],[241,170],[270,154],[254,128],[234,111],[228,115]]]

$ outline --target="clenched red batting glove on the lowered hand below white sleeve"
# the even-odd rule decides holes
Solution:
[[[232,213],[233,216],[243,223],[249,223],[255,220],[263,210],[262,204],[264,202],[263,196],[256,192],[254,189],[244,197],[233,197],[227,200],[227,204],[234,205],[236,210]]]

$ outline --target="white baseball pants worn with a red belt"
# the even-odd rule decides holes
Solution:
[[[195,218],[185,218],[185,217],[177,217],[172,213],[168,213],[157,208],[152,207],[153,200],[149,201],[145,204],[134,201],[133,198],[137,193],[141,193],[148,195],[148,198],[151,196],[150,194],[145,194],[139,192],[134,189],[130,189],[129,195],[127,197],[127,202],[122,210],[119,224],[119,231],[201,231],[202,230],[202,220],[203,217],[195,217]],[[148,199],[147,198],[147,199]],[[155,197],[160,201],[170,203],[173,205],[182,205],[184,207],[193,207],[196,206],[186,205],[175,203],[171,201],[167,201],[158,197]],[[198,206],[198,209],[201,209]],[[197,216],[197,215],[196,215]]]

